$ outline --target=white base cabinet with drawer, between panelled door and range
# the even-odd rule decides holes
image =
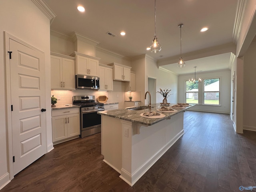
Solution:
[[[52,142],[58,144],[80,135],[80,108],[52,110]]]

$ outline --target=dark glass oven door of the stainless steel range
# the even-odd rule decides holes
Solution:
[[[101,126],[101,115],[97,114],[101,110],[81,111],[81,132]]]

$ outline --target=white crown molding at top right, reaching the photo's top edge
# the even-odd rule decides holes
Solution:
[[[233,40],[236,44],[241,31],[242,21],[244,19],[245,7],[246,7],[246,0],[238,0],[237,7],[236,7],[235,24],[233,29]]]

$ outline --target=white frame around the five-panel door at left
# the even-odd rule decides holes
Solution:
[[[6,80],[6,104],[5,104],[5,110],[6,110],[6,127],[7,127],[7,135],[8,135],[8,144],[7,144],[7,149],[6,151],[8,152],[8,171],[10,174],[10,180],[14,178],[14,167],[13,167],[13,145],[12,145],[12,112],[11,112],[11,82],[10,82],[10,58],[9,58],[9,53],[10,51],[10,45],[9,45],[9,40],[12,39],[20,44],[23,44],[24,46],[27,46],[28,48],[31,48],[33,50],[36,50],[38,52],[44,53],[43,51],[35,48],[34,46],[16,38],[15,36],[9,34],[8,32],[4,31],[4,43],[5,43],[5,80]],[[45,82],[44,82],[45,83]],[[46,105],[46,103],[45,103]],[[45,120],[46,121],[46,120]],[[47,122],[47,121],[46,121]],[[46,124],[45,122],[45,124]],[[46,152],[47,152],[47,129],[46,129]]]

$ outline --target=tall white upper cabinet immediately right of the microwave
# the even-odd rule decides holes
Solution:
[[[113,67],[99,64],[100,90],[113,90]]]

